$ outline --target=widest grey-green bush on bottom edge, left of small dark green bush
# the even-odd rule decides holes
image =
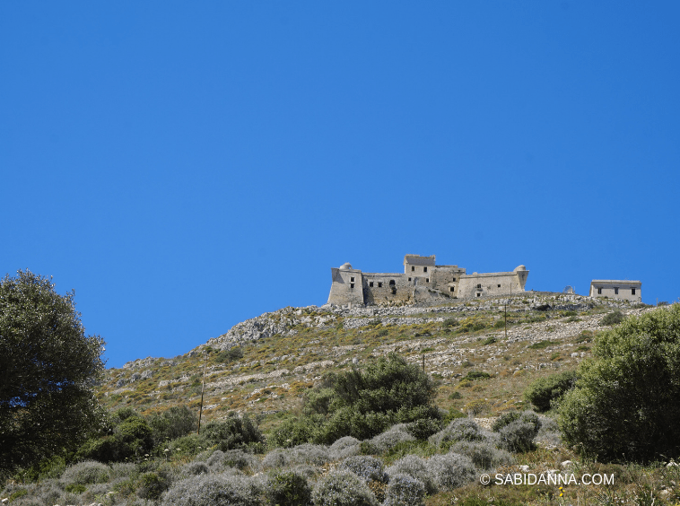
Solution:
[[[248,476],[198,475],[176,482],[162,506],[260,506],[257,484]]]

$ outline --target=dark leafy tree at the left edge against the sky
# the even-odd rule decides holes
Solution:
[[[85,336],[74,292],[30,271],[0,281],[0,470],[74,448],[98,426],[103,346]]]

